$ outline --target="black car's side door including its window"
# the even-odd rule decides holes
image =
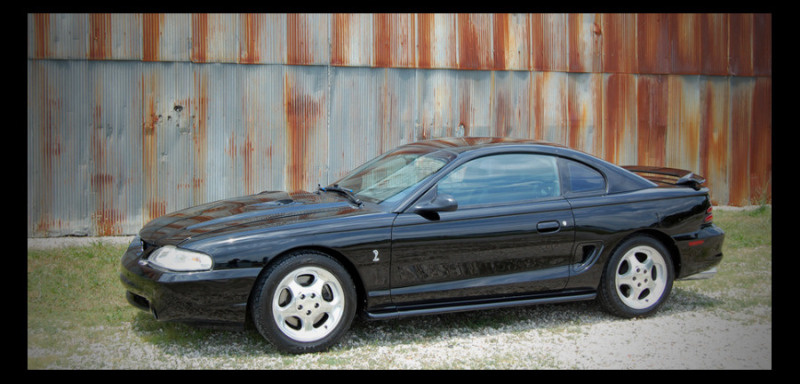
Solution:
[[[421,199],[449,195],[451,212],[406,210],[392,229],[392,302],[493,299],[566,285],[573,219],[556,158],[515,153],[457,167]]]

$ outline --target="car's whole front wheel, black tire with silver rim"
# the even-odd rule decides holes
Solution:
[[[316,251],[288,255],[256,281],[252,301],[256,329],[286,353],[324,351],[350,328],[356,290],[347,270]]]

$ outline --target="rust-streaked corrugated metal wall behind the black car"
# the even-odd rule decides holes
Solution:
[[[770,201],[769,14],[31,14],[28,234],[312,189],[397,145],[548,140]]]

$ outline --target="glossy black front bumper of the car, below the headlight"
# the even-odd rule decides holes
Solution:
[[[244,324],[247,300],[261,268],[169,272],[145,262],[135,238],[122,256],[120,281],[134,307],[157,320]]]

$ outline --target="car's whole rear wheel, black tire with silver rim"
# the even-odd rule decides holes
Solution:
[[[650,236],[633,237],[606,263],[597,298],[615,316],[650,316],[664,305],[674,278],[672,257],[664,245]]]

